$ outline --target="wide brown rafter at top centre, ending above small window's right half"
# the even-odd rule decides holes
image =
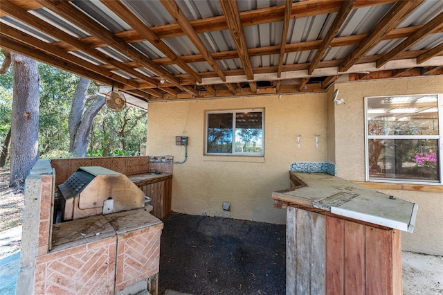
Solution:
[[[239,59],[242,61],[246,78],[253,80],[254,73],[252,70],[251,57],[249,57],[248,45],[246,44],[246,38],[243,33],[237,0],[220,0],[220,4],[221,8],[223,8],[224,17],[228,24],[230,35],[233,37]]]

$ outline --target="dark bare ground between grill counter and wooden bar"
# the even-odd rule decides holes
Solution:
[[[285,226],[171,213],[161,235],[159,294],[285,294]]]

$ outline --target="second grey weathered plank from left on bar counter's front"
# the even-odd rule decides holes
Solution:
[[[309,211],[296,209],[296,294],[311,291],[311,215]]]

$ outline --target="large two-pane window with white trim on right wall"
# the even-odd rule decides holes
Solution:
[[[443,94],[365,98],[366,181],[442,185]]]

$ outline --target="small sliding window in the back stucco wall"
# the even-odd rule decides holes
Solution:
[[[263,109],[208,111],[205,154],[262,156],[263,126]]]

